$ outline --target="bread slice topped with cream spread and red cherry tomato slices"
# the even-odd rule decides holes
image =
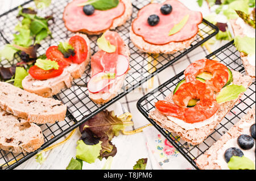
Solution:
[[[28,71],[29,75],[22,81],[23,89],[48,98],[58,94],[61,89],[71,87],[73,79],[80,78],[89,64],[90,40],[85,34],[77,33],[69,39],[68,45],[65,47],[69,45],[73,47],[73,52],[68,58],[57,46],[49,47],[46,57],[52,61],[52,64],[57,65],[57,69],[42,69],[47,66],[39,65],[48,65],[46,61],[35,64]]]

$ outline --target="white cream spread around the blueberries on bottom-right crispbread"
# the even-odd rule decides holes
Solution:
[[[251,127],[251,124],[250,123],[244,123],[244,124],[241,124],[240,125],[240,129],[243,129],[243,132],[241,132],[241,134],[247,134],[247,135],[251,135],[250,134],[250,127]],[[229,148],[232,148],[232,147],[236,147],[236,148],[240,148],[240,146],[238,146],[237,144],[237,138],[233,138],[229,141],[227,141],[220,150],[217,151],[217,159],[216,161],[214,161],[215,163],[217,163],[222,170],[229,170],[229,167],[228,167],[228,163],[226,163],[225,161],[225,157],[224,157],[224,154],[225,154],[225,151]],[[254,146],[253,148],[251,148],[250,150],[243,150],[243,155],[249,159],[251,159],[251,161],[253,161],[255,163],[255,142],[254,142]]]

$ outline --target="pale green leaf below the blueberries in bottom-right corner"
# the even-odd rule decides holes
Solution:
[[[245,156],[233,156],[228,162],[228,167],[230,170],[255,170],[255,163]]]

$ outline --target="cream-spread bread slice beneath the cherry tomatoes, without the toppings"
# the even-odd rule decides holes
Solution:
[[[24,90],[48,98],[58,94],[61,89],[64,89],[65,87],[70,88],[72,86],[73,79],[77,79],[82,76],[90,61],[90,40],[82,33],[76,33],[76,35],[83,37],[88,45],[88,55],[86,60],[81,64],[71,64],[64,69],[60,76],[44,81],[34,79],[31,75],[27,75],[27,77],[22,81]]]

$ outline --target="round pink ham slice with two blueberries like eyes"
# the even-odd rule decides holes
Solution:
[[[160,8],[164,4],[172,6],[172,12],[163,15]],[[160,22],[156,26],[147,23],[148,16],[156,14]],[[189,15],[187,24],[174,35],[169,36],[170,30],[178,24],[185,15]],[[203,16],[199,11],[191,11],[177,0],[169,0],[163,4],[151,3],[144,6],[138,13],[137,19],[132,23],[133,32],[141,36],[144,41],[154,45],[164,45],[171,42],[180,42],[191,39],[199,30],[198,25],[202,22]]]

